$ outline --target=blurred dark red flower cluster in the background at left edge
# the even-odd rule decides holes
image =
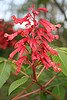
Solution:
[[[13,46],[16,43],[15,39],[8,42],[7,38],[4,37],[5,33],[14,33],[13,23],[5,22],[3,19],[0,19],[0,48],[2,49],[6,49],[6,47]]]

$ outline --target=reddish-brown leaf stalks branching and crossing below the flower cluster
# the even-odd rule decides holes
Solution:
[[[43,72],[43,70],[44,70],[44,67],[41,69],[41,71],[38,74],[37,78],[41,75],[41,73]],[[24,74],[25,76],[27,76],[28,78],[32,79],[32,83],[27,88],[25,88],[23,91],[21,91],[18,95],[16,95],[12,100],[19,100],[19,99],[21,99],[23,97],[26,97],[26,96],[29,96],[31,94],[37,93],[37,92],[39,92],[41,90],[43,92],[49,93],[50,95],[56,97],[56,95],[52,94],[50,91],[44,90],[44,88],[46,88],[56,78],[56,75],[54,75],[47,83],[45,83],[45,85],[42,86],[41,84],[38,83],[37,80],[33,79],[31,76],[27,75],[25,72],[21,71],[21,73]],[[34,91],[30,92],[30,93],[22,95],[26,90],[28,90],[33,85],[33,83],[36,83],[38,86],[40,86],[40,88],[37,89],[37,90],[34,90]],[[60,99],[58,99],[58,100],[60,100]]]

